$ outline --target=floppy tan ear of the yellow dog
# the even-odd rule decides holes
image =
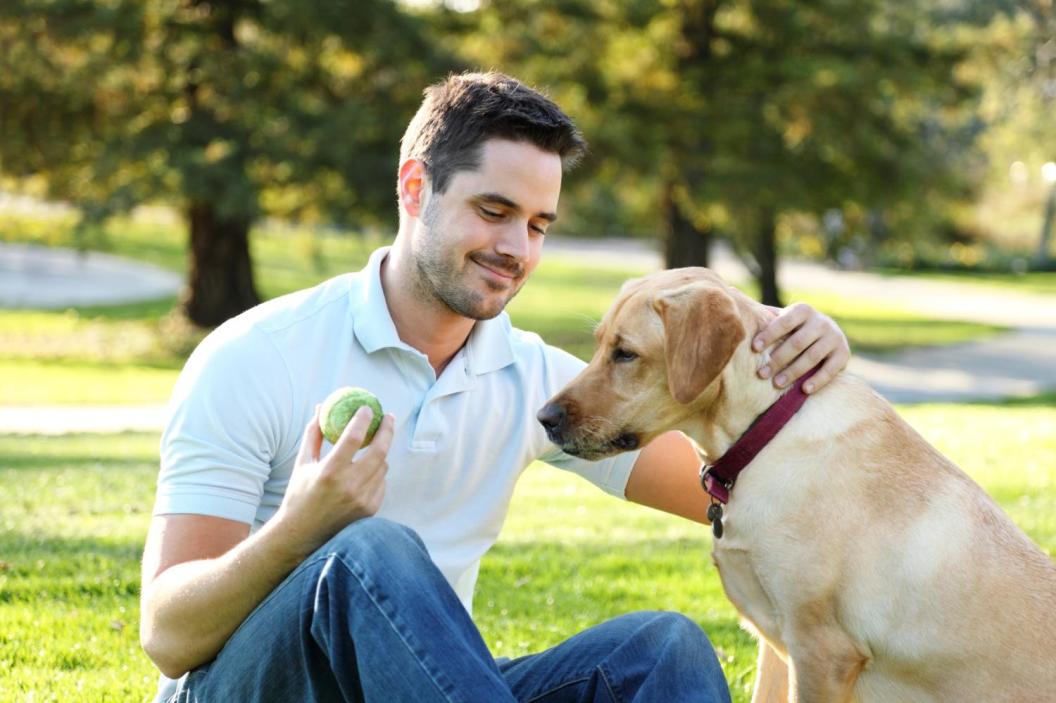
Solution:
[[[661,293],[653,306],[663,320],[671,395],[691,403],[718,377],[748,334],[737,305],[721,288],[691,283]]]

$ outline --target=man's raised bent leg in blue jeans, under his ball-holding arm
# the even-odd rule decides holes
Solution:
[[[366,518],[305,559],[176,700],[514,699],[418,536]]]

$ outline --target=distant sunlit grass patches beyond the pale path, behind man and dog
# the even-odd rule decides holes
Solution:
[[[77,243],[64,220],[0,217],[4,241]],[[357,270],[380,236],[254,231],[261,293],[271,298]],[[184,233],[172,225],[115,221],[82,244],[184,272]],[[510,305],[514,324],[587,359],[592,330],[620,286],[644,271],[547,258]],[[897,307],[815,291],[790,291],[832,315],[856,353],[951,344],[1000,332],[991,325],[922,318]],[[201,335],[170,316],[173,298],[68,310],[0,310],[0,405],[162,403]]]

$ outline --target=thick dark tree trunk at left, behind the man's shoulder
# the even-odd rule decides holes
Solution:
[[[260,303],[249,261],[249,220],[223,217],[211,203],[192,203],[191,260],[181,305],[200,327],[215,327]]]

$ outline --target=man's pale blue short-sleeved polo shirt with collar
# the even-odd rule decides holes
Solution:
[[[535,413],[584,364],[513,328],[505,312],[477,322],[437,379],[389,316],[386,253],[375,251],[359,272],[259,305],[202,342],[173,392],[154,514],[213,515],[259,529],[282,502],[316,404],[339,386],[362,386],[396,418],[378,515],[421,536],[471,610],[480,557],[529,463],[574,471],[623,497],[638,454],[584,461],[546,438]]]

